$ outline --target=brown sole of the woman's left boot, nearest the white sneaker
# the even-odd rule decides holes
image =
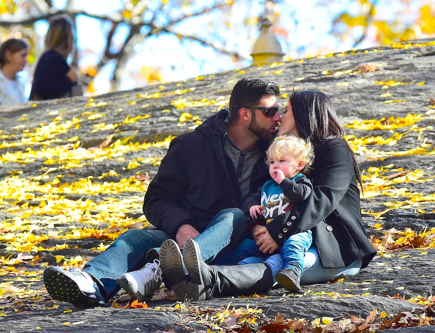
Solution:
[[[180,248],[174,240],[165,240],[160,247],[160,268],[165,280],[171,284],[177,300],[184,302],[190,298],[186,276],[183,271]],[[181,280],[181,277],[183,280]]]

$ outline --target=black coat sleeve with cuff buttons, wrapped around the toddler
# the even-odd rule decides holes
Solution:
[[[268,223],[267,228],[275,242],[296,233],[312,229],[331,214],[348,191],[354,168],[348,147],[343,140],[324,143],[316,155],[319,166],[313,177],[314,188],[308,199],[285,213],[279,223]]]

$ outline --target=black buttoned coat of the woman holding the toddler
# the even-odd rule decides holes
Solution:
[[[343,140],[328,140],[316,149],[308,179],[314,186],[308,199],[268,223],[269,233],[282,246],[288,236],[311,230],[323,267],[346,267],[363,258],[365,268],[376,250],[361,222],[355,171]]]

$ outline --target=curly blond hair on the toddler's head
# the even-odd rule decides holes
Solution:
[[[311,142],[295,137],[294,135],[280,135],[276,137],[266,152],[266,163],[271,157],[281,160],[282,157],[292,157],[305,162],[301,173],[307,173],[314,160],[314,151]]]

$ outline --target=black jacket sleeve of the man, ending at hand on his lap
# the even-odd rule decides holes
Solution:
[[[172,140],[144,198],[148,222],[171,237],[175,237],[182,224],[195,225],[191,214],[180,206],[190,184],[185,146],[183,136]]]

